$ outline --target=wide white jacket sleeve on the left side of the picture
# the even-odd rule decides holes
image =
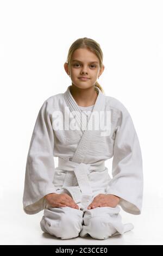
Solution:
[[[37,115],[26,163],[24,179],[23,210],[36,214],[45,209],[44,196],[55,193],[54,177],[54,133],[45,101]]]

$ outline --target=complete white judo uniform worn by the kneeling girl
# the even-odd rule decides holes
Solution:
[[[98,96],[95,105],[88,107],[92,110],[88,120],[83,118],[84,108],[77,105],[70,86],[65,93],[49,97],[37,115],[29,145],[23,209],[27,214],[44,210],[41,229],[61,239],[78,235],[107,239],[133,229],[131,223],[122,224],[120,206],[130,214],[141,214],[142,156],[133,121],[120,101],[102,94],[97,87],[95,90]],[[93,120],[96,124],[99,116],[102,122],[108,113],[110,123],[106,130],[88,129]],[[63,124],[59,129],[57,115]],[[82,129],[74,130],[71,124],[69,128],[73,128],[67,129],[64,124],[68,115],[72,122],[76,120],[76,127],[81,127],[82,117]],[[54,156],[58,157],[56,168]],[[105,167],[105,160],[111,157],[112,178]],[[44,198],[49,193],[69,194],[79,210],[68,206],[52,208]],[[100,193],[120,197],[120,206],[88,210]]]

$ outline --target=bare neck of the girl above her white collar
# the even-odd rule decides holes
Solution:
[[[95,86],[81,89],[72,84],[70,87],[70,92],[78,106],[81,107],[89,107],[94,105],[98,96]]]

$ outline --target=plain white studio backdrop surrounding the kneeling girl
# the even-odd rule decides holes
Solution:
[[[0,1],[1,180],[0,243],[163,244],[162,1]],[[134,230],[107,240],[55,239],[36,215],[23,212],[26,160],[36,117],[49,97],[71,84],[64,70],[78,38],[96,40],[105,94],[128,109],[139,137],[144,174],[142,214],[122,211]],[[111,160],[106,161],[111,172]]]

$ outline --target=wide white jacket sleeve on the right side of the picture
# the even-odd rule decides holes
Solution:
[[[122,209],[139,215],[143,198],[142,155],[133,120],[124,107],[115,131],[112,179],[106,194],[120,197]]]

